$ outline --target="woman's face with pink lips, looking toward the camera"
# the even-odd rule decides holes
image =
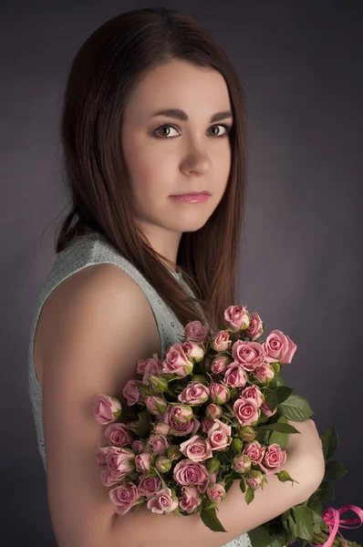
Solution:
[[[158,115],[179,109],[185,115]],[[136,212],[145,232],[194,232],[223,198],[231,167],[228,136],[233,123],[228,88],[212,69],[173,60],[145,75],[125,109],[122,147],[130,172]],[[224,115],[211,122],[218,112]],[[202,203],[171,195],[209,191]],[[154,230],[155,231],[155,230]]]

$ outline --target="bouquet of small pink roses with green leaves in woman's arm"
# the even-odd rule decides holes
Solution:
[[[245,305],[229,306],[224,319],[225,329],[216,333],[192,321],[181,343],[162,360],[157,354],[140,360],[136,378],[122,390],[126,408],[116,397],[95,398],[93,415],[107,426],[107,444],[97,451],[101,481],[112,487],[109,497],[119,514],[136,511],[142,503],[159,514],[198,511],[208,528],[225,532],[218,504],[233,480],[239,481],[247,503],[271,474],[295,482],[281,469],[288,435],[298,433],[287,420],[304,421],[314,414],[280,374],[296,344],[280,330],[262,339],[264,322]],[[337,449],[335,428],[321,439],[327,461]],[[327,532],[332,536],[327,547],[340,546],[337,511],[320,513],[322,501],[333,497],[328,480],[346,472],[336,460],[327,462],[325,480],[309,500],[248,532],[254,547],[284,547],[296,539],[304,547],[323,544]],[[363,511],[359,516],[362,523]]]

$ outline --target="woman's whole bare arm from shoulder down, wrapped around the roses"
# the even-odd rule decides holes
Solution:
[[[79,272],[52,294],[49,341],[43,355],[43,420],[47,494],[59,547],[220,547],[316,490],[322,477],[314,450],[285,463],[299,481],[270,477],[247,506],[238,482],[219,505],[224,532],[211,532],[197,516],[157,515],[141,507],[120,516],[100,482],[96,449],[104,427],[91,414],[99,393],[119,397],[140,358],[155,351],[154,318],[128,274],[100,264]],[[302,434],[299,436],[304,437]]]

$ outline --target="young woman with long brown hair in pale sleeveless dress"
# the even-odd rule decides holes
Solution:
[[[218,513],[228,532],[216,533],[197,515],[161,517],[141,507],[120,517],[100,482],[103,428],[91,412],[99,393],[120,397],[138,359],[161,357],[179,342],[186,323],[223,328],[223,310],[239,302],[246,123],[237,74],[192,17],[133,10],[78,51],[61,136],[71,211],[29,347],[58,545],[248,546],[248,531],[320,484],[324,459],[312,420],[295,424],[301,435],[287,447],[285,469],[298,483],[272,477],[249,506],[233,485]]]

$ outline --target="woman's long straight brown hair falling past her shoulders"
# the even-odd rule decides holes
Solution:
[[[135,222],[130,176],[121,150],[123,112],[146,71],[181,59],[219,71],[233,108],[231,170],[226,190],[208,221],[183,232],[177,271],[196,299],[161,262]],[[97,232],[133,263],[182,325],[204,317],[225,327],[224,309],[236,301],[244,229],[246,121],[244,91],[231,61],[192,16],[165,8],[135,9],[99,26],[70,67],[61,119],[61,144],[70,212],[62,219],[56,253],[75,237]]]

